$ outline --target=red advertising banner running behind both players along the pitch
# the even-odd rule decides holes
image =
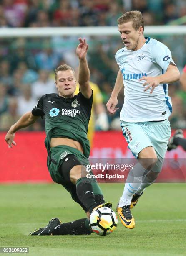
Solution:
[[[184,131],[186,137],[186,131]],[[45,132],[17,132],[17,146],[8,148],[5,133],[0,133],[0,182],[52,182],[46,166]],[[95,159],[133,159],[120,131],[96,132],[90,153],[90,163]],[[186,152],[178,146],[166,153],[158,182],[186,181]],[[110,161],[108,160],[108,161]],[[113,182],[113,180],[98,182]],[[117,179],[115,182],[122,182]]]

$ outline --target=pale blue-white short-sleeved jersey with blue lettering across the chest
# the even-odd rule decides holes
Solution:
[[[146,122],[164,120],[171,115],[171,98],[168,84],[159,84],[150,94],[144,92],[143,76],[156,77],[166,72],[174,63],[171,51],[161,42],[146,37],[146,43],[137,51],[125,47],[116,52],[116,62],[123,75],[125,100],[120,120],[126,122]]]

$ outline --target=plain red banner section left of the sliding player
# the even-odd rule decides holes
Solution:
[[[4,138],[5,133],[0,133],[0,182],[52,182],[44,132],[17,132],[13,148]]]

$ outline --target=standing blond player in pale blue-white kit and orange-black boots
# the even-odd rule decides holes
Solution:
[[[107,102],[108,112],[118,108],[118,93],[124,84],[124,104],[120,112],[123,136],[138,163],[126,179],[116,210],[126,228],[134,228],[131,215],[143,190],[158,177],[171,136],[172,112],[168,83],[180,79],[171,52],[155,39],[144,37],[142,13],[131,11],[118,18],[124,48],[116,52],[119,72]]]

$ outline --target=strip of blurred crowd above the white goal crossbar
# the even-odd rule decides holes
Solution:
[[[185,0],[1,0],[1,27],[116,26],[128,10],[143,12],[146,25],[186,15]]]

